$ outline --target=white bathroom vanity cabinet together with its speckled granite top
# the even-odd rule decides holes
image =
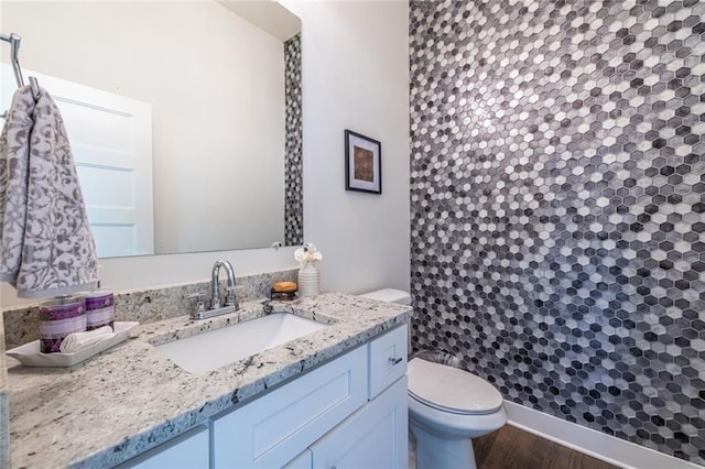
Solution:
[[[140,326],[72,369],[9,369],[13,467],[406,467],[411,308],[325,294]],[[324,329],[205,373],[155,346],[272,313]]]

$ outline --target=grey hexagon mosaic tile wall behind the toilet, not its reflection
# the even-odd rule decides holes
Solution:
[[[705,463],[705,2],[412,1],[414,348]]]

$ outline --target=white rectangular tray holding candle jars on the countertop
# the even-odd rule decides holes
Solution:
[[[25,367],[73,367],[112,346],[117,346],[127,339],[130,330],[139,324],[115,323],[115,335],[112,337],[73,353],[42,353],[39,340],[8,350],[6,353],[20,360]]]

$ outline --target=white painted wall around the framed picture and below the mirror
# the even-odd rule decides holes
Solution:
[[[302,19],[305,240],[322,250],[324,288],[409,288],[409,6],[282,1]],[[344,130],[382,142],[382,195],[345,190]],[[204,280],[293,268],[293,249],[101,260],[106,285]],[[1,305],[17,299],[2,284]]]

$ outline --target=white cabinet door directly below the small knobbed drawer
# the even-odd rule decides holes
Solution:
[[[406,377],[311,447],[321,469],[401,469],[409,465]]]

